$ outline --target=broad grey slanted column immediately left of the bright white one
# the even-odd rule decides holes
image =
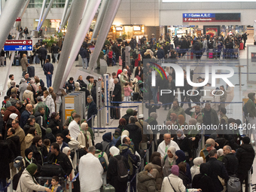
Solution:
[[[66,32],[65,40],[62,46],[62,51],[59,57],[59,64],[57,69],[54,70],[54,72],[56,73],[53,81],[53,89],[55,93],[59,91],[59,87],[63,86],[63,84],[61,85],[61,81],[67,66],[70,51],[72,50],[72,45],[75,41],[75,36],[78,32],[78,26],[84,13],[84,7],[86,2],[86,0],[73,1],[73,8],[70,14],[69,26]],[[78,44],[76,44],[75,46],[79,47]]]

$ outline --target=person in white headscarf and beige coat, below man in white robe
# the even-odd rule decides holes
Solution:
[[[173,146],[170,146],[167,149],[167,154],[165,157],[162,158],[161,164],[163,166],[163,176],[167,177],[172,173],[171,169],[172,166],[175,165],[175,151],[176,148]]]

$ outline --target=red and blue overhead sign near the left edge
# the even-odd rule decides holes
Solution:
[[[32,50],[32,40],[7,40],[4,50]]]

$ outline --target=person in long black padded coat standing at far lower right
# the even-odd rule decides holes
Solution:
[[[236,151],[236,158],[238,159],[238,178],[241,182],[245,181],[245,192],[248,191],[248,171],[251,169],[252,163],[254,161],[255,152],[250,144],[250,139],[245,136],[242,138],[242,145]]]

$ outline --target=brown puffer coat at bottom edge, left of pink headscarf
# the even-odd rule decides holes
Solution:
[[[140,192],[156,192],[156,181],[154,181],[153,175],[148,171],[139,172],[138,175],[138,191]]]

